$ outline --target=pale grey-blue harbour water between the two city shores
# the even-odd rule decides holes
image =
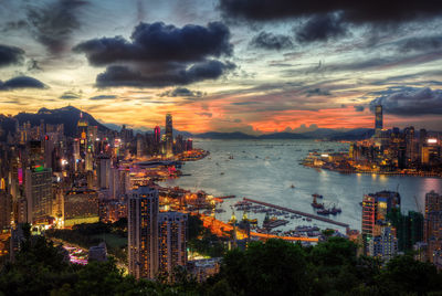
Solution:
[[[222,204],[225,213],[217,218],[228,221],[231,207],[243,197],[256,199],[290,209],[315,213],[311,207],[312,194],[324,195],[326,205],[336,204],[343,212],[329,218],[360,230],[364,194],[381,190],[398,190],[402,212],[424,209],[425,193],[442,193],[438,178],[344,175],[336,171],[306,168],[299,165],[309,150],[334,151],[348,149],[349,144],[314,140],[207,140],[194,139],[193,146],[210,151],[202,160],[186,162],[185,176],[161,182],[162,186],[198,191],[215,197],[234,194],[234,200]],[[230,159],[232,158],[232,159]],[[294,184],[295,188],[291,188]],[[414,199],[414,197],[417,199]],[[239,215],[239,213],[236,213]],[[257,216],[262,219],[262,215]],[[326,228],[325,223],[318,223]],[[330,225],[328,225],[330,226]]]

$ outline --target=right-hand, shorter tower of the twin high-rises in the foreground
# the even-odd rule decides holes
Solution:
[[[187,214],[164,212],[158,216],[158,268],[172,275],[173,268],[187,264],[186,247]]]

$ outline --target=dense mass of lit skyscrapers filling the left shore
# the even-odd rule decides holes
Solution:
[[[137,135],[125,126],[120,131],[110,130],[90,125],[86,115],[78,110],[73,133],[65,133],[63,124],[45,124],[43,119],[31,125],[8,118],[14,119],[14,126],[1,142],[2,261],[15,260],[28,223],[33,235],[85,249],[83,256],[82,250],[66,246],[74,263],[86,263],[87,253],[90,258],[106,260],[109,250],[123,267],[128,257],[129,272],[138,278],[185,266],[188,214],[172,211],[164,202],[160,205],[159,187],[154,181],[176,178],[182,161],[207,152],[193,149],[191,139],[173,137],[170,114],[166,115],[164,135],[159,126],[154,133]],[[167,199],[168,193],[161,194]],[[97,223],[115,225],[123,219],[128,223],[117,233],[103,226],[97,233],[87,232],[87,228],[99,228]],[[84,233],[90,234],[88,240],[81,239]],[[109,249],[101,241],[110,242]],[[154,252],[148,258],[146,254]]]

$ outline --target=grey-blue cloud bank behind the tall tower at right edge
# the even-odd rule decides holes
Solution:
[[[442,89],[394,87],[378,94],[380,96],[370,102],[371,110],[380,104],[387,114],[399,116],[442,115]]]

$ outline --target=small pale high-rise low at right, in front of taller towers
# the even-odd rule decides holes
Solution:
[[[398,254],[398,240],[390,226],[382,226],[380,235],[372,237],[369,242],[369,254],[383,262],[388,262]]]

